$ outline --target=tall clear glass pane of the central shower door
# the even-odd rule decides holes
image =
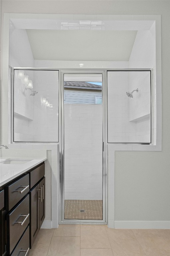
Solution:
[[[64,75],[65,219],[103,218],[101,82],[101,74]]]

